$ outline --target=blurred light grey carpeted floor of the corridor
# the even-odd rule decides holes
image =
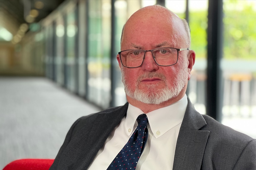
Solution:
[[[21,158],[55,158],[81,116],[99,108],[45,77],[0,77],[0,169]]]

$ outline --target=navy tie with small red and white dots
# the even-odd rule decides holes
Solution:
[[[137,128],[107,170],[136,169],[137,162],[148,140],[146,114],[138,116],[137,122]]]

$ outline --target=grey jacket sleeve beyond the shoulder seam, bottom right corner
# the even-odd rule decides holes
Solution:
[[[256,170],[256,139],[246,145],[233,170]]]

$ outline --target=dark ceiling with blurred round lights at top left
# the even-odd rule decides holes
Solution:
[[[0,0],[0,28],[15,35],[23,23],[37,23],[64,0]],[[1,41],[1,40],[0,40]]]

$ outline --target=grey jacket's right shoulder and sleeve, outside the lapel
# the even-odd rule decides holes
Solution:
[[[203,115],[210,132],[202,169],[246,169],[256,167],[256,139]],[[213,166],[213,167],[212,167]]]

